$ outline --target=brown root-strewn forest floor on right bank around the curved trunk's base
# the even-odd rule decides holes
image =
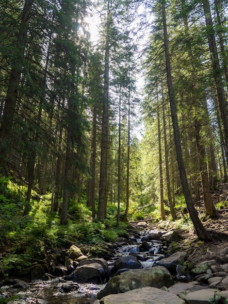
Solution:
[[[146,230],[147,228],[155,230],[164,229],[166,231],[177,230],[180,236],[179,244],[181,250],[189,253],[193,262],[211,260],[219,256],[221,249],[228,247],[228,183],[221,182],[217,185],[216,189],[212,191],[212,200],[215,205],[218,203],[222,204],[222,208],[217,209],[221,216],[216,219],[205,217],[202,193],[201,201],[195,205],[204,227],[212,234],[213,240],[211,242],[198,240],[192,225],[177,229],[175,221],[160,221],[158,224],[152,224],[152,220],[146,219],[131,222],[131,225],[142,230]]]

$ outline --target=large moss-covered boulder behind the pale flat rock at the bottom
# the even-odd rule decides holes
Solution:
[[[172,275],[163,266],[128,270],[112,277],[104,289],[98,292],[98,299],[109,294],[122,293],[137,288],[161,288],[163,286],[170,287],[173,284]]]

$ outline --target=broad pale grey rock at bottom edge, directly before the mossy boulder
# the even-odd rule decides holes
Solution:
[[[125,293],[110,294],[97,304],[184,304],[178,296],[155,287],[144,287],[130,290]]]

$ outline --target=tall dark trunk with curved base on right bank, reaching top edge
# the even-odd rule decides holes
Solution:
[[[179,167],[179,173],[180,173],[180,178],[181,178],[181,184],[182,184],[187,208],[188,208],[191,220],[193,221],[197,236],[203,241],[211,241],[212,240],[211,235],[205,229],[202,222],[199,220],[197,211],[195,210],[192,194],[191,194],[189,186],[188,186],[188,180],[187,180],[186,171],[185,171],[185,167],[184,167],[183,155],[182,155],[181,145],[180,145],[177,107],[176,107],[176,102],[175,102],[175,98],[174,98],[172,75],[171,75],[169,43],[168,43],[167,25],[166,25],[165,0],[162,0],[162,11],[163,11],[163,35],[164,35],[164,47],[165,47],[165,66],[166,66],[166,76],[167,76],[167,84],[168,84],[168,95],[169,95],[169,102],[170,102],[170,108],[171,108],[171,116],[172,116],[172,121],[173,121],[174,140],[175,140],[175,147],[176,147],[176,153],[177,153],[177,159],[178,159],[178,167]]]

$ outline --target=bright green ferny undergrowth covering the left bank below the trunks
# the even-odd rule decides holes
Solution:
[[[24,186],[16,187],[10,182],[10,187],[6,186],[5,189],[7,198],[0,204],[0,224],[4,227],[1,234],[11,244],[8,254],[2,254],[1,257],[0,268],[5,273],[28,266],[32,259],[43,258],[47,248],[67,248],[75,243],[96,244],[127,236],[128,224],[120,222],[116,225],[115,204],[108,206],[108,219],[90,221],[91,210],[86,207],[86,203],[70,200],[70,220],[68,225],[63,226],[59,215],[50,212],[52,195],[49,193],[39,201],[34,196],[30,215],[23,217],[21,197],[25,192]],[[17,199],[20,203],[17,203]]]

